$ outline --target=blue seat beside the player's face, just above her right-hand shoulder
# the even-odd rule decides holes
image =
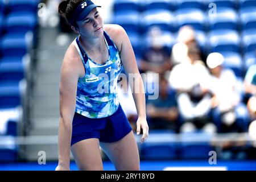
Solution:
[[[114,15],[113,22],[126,31],[139,32],[139,13],[137,11],[119,11]]]

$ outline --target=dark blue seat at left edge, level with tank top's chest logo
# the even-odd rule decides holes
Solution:
[[[20,81],[25,77],[26,73],[22,63],[0,63],[1,81]]]

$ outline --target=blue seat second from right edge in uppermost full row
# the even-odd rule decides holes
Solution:
[[[218,7],[216,14],[209,18],[209,30],[231,29],[238,30],[239,16],[237,11],[230,8]]]

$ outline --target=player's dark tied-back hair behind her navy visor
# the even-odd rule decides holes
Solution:
[[[59,14],[65,14],[67,22],[72,26],[77,27],[76,23],[71,24],[70,22],[77,6],[79,6],[82,1],[84,0],[64,0],[59,4]]]

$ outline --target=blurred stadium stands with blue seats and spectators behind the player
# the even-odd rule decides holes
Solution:
[[[60,67],[77,36],[57,14],[59,2],[0,0],[0,170],[57,165]],[[150,137],[141,144],[136,136],[141,169],[255,170],[256,1],[93,2],[105,23],[125,28],[149,76]],[[135,131],[131,90],[118,94]]]

